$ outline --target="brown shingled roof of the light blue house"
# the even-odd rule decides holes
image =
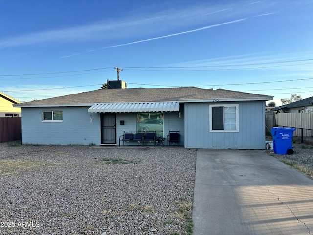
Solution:
[[[204,102],[271,100],[273,96],[235,92],[224,89],[202,89],[196,87],[178,88],[127,88],[99,89],[90,92],[70,94],[55,98],[36,100],[15,105],[15,107],[46,106],[92,106],[95,103],[140,103],[140,102]]]

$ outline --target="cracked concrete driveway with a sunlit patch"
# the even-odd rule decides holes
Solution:
[[[262,150],[200,149],[194,235],[313,234],[313,180]]]

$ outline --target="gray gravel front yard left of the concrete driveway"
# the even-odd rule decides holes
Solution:
[[[0,143],[0,234],[188,234],[195,166],[177,147]]]

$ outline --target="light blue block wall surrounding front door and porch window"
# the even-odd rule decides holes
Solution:
[[[100,113],[89,113],[88,107],[22,108],[22,143],[44,145],[101,144]],[[63,111],[62,122],[43,122],[42,111]],[[90,115],[92,122],[90,122]],[[120,125],[124,120],[124,125]],[[184,144],[184,114],[164,112],[164,137],[168,131],[180,131],[180,144]],[[116,114],[116,143],[124,131],[137,131],[136,113]],[[166,144],[166,140],[164,141]],[[122,144],[122,143],[121,143]],[[134,144],[134,143],[132,143]]]

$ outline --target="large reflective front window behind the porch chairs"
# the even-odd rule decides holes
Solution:
[[[156,131],[157,137],[163,137],[163,113],[138,113],[137,126],[138,131]]]

